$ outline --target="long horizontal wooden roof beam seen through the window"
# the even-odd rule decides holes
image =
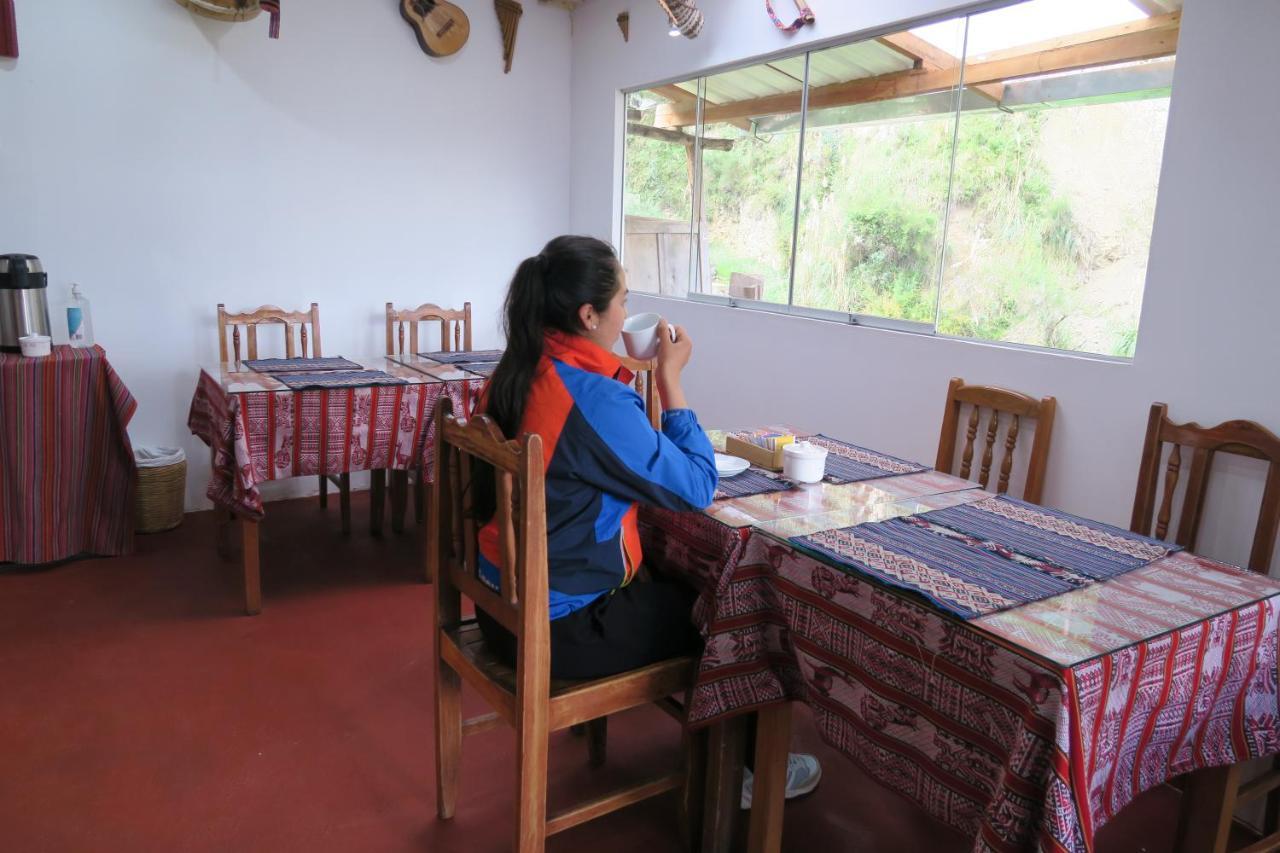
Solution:
[[[1158,24],[1130,29],[1115,35],[1115,28],[1078,33],[1071,44],[1059,45],[1047,50],[1033,50],[1009,56],[988,55],[964,68],[964,82],[968,86],[983,83],[1002,83],[1020,77],[1036,77],[1056,72],[1097,68],[1139,59],[1169,56],[1178,50],[1178,13],[1165,15]],[[1157,18],[1147,18],[1157,22]],[[1135,22],[1139,23],[1139,22]],[[927,95],[954,88],[960,81],[960,68],[928,69],[913,68],[891,72],[876,77],[864,77],[842,83],[819,86],[809,91],[809,108],[826,109],[849,106],[870,101],[887,101],[911,95]],[[704,122],[727,122],[731,119],[759,118],[797,113],[800,92],[768,95],[727,104],[709,104],[703,108]],[[676,105],[659,106],[654,124],[657,127],[685,127],[696,120],[696,111]]]

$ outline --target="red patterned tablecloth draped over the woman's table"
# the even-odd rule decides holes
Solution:
[[[1089,850],[1143,790],[1280,752],[1267,578],[1176,553],[966,622],[759,530],[646,520],[648,557],[713,590],[694,725],[806,702],[824,740],[975,850]]]

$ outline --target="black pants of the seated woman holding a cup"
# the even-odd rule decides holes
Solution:
[[[675,580],[635,580],[552,620],[552,678],[596,679],[701,651],[690,619],[696,598]],[[481,610],[476,620],[489,648],[515,663],[511,631]]]

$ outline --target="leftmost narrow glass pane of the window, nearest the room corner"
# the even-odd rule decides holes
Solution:
[[[696,91],[696,81],[626,99],[622,264],[627,287],[643,293],[685,296],[691,289],[691,160],[686,146],[658,128],[659,114],[696,100],[682,87]]]

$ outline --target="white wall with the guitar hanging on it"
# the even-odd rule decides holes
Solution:
[[[285,3],[279,41],[265,17],[173,0],[17,4],[0,251],[45,261],[55,341],[68,282],[83,286],[138,398],[133,441],[193,459],[188,508],[207,506],[186,421],[218,302],[316,301],[325,353],[362,355],[383,347],[387,301],[471,300],[485,346],[518,260],[564,231],[568,17],[526,3],[503,74],[492,6],[466,8],[470,42],[429,59],[392,0]]]

